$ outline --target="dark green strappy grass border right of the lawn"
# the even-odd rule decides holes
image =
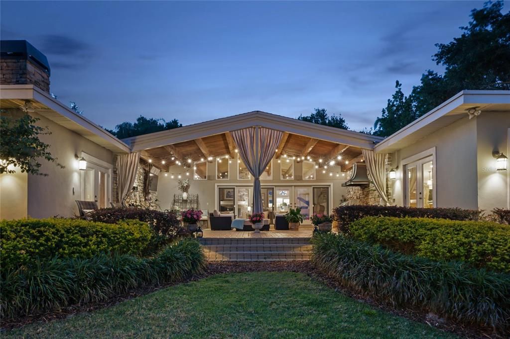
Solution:
[[[510,329],[510,274],[408,256],[341,234],[316,235],[312,242],[312,263],[356,292],[466,324]]]

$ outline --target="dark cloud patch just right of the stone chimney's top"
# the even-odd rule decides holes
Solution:
[[[94,58],[94,48],[70,36],[46,34],[40,37],[40,49],[50,55],[50,66],[60,69],[86,68]]]

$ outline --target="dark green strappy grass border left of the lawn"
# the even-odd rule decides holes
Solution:
[[[202,272],[205,265],[202,248],[193,239],[169,245],[150,259],[101,254],[38,260],[2,274],[0,316],[22,317],[107,300],[133,288],[180,281]]]

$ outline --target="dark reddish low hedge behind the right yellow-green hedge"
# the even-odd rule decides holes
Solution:
[[[412,218],[442,218],[450,220],[478,220],[481,210],[463,210],[461,208],[415,208],[401,206],[369,206],[351,205],[335,208],[335,220],[338,221],[338,230],[349,233],[351,222],[366,216],[412,217]]]

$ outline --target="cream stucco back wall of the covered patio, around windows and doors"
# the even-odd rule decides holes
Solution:
[[[279,176],[280,164],[277,160],[273,159],[273,178],[272,180],[261,180],[262,186],[289,186],[293,184],[307,184],[310,186],[319,185],[319,183],[332,183],[333,184],[333,201],[331,201],[330,208],[334,208],[339,205],[342,195],[346,195],[345,187],[341,186],[341,183],[345,182],[348,177],[342,177],[342,173],[339,166],[328,168],[325,174],[322,173],[321,168],[316,170],[316,180],[281,180]],[[215,207],[215,184],[220,185],[250,185],[252,180],[238,180],[237,179],[237,159],[232,159],[230,164],[230,180],[194,180],[193,179],[193,168],[190,170],[190,175],[185,175],[186,171],[182,166],[170,166],[169,173],[174,173],[175,178],[172,180],[170,174],[165,177],[164,173],[160,173],[158,180],[158,204],[161,209],[171,208],[173,201],[173,194],[181,193],[177,189],[177,174],[181,173],[182,179],[190,179],[190,190],[191,194],[198,194],[199,204],[201,209],[214,210]],[[216,164],[215,162],[208,164],[208,178],[216,177]],[[329,172],[333,172],[333,177],[329,176]],[[340,177],[336,177],[337,172]],[[302,163],[294,163],[294,177],[302,173]]]

